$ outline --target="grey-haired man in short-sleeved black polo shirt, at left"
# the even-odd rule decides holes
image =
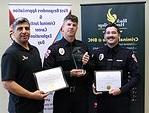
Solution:
[[[42,69],[39,51],[29,44],[30,24],[26,18],[12,24],[13,43],[2,56],[1,72],[8,90],[9,113],[42,113],[47,94],[37,90],[33,73]]]

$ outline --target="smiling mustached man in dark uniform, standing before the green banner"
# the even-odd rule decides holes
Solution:
[[[129,91],[140,78],[137,58],[133,51],[118,44],[120,30],[116,24],[106,26],[104,39],[106,45],[95,51],[92,66],[95,71],[122,70],[122,77],[120,88],[113,87],[108,92],[99,93],[94,89],[99,99],[98,113],[129,113]]]

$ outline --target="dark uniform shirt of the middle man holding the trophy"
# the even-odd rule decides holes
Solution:
[[[70,86],[82,86],[83,84],[86,84],[84,83],[86,82],[86,76],[78,78],[70,77],[70,71],[76,68],[73,58],[73,51],[76,48],[80,48],[83,53],[88,51],[87,47],[81,41],[74,40],[72,43],[69,43],[66,39],[63,38],[48,48],[43,65],[44,69],[61,66],[64,72],[64,76]]]

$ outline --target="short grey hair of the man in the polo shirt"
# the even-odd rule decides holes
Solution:
[[[25,17],[18,17],[14,20],[13,24],[12,24],[12,28],[15,29],[17,25],[22,24],[22,23],[28,23],[28,25],[30,26],[29,20]]]

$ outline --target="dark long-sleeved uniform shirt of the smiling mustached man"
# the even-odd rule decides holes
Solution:
[[[122,93],[130,90],[139,79],[138,62],[129,49],[104,46],[93,55],[95,70],[122,70]],[[131,77],[131,78],[130,78]],[[129,80],[129,81],[128,81]]]

